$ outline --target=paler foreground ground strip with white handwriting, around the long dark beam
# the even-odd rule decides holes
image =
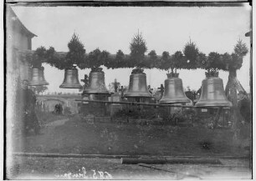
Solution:
[[[114,158],[14,157],[12,179],[182,179],[252,178],[248,160],[221,159],[220,164],[121,164]]]

